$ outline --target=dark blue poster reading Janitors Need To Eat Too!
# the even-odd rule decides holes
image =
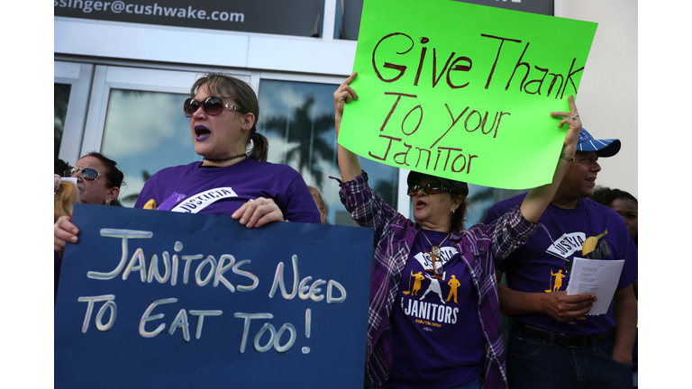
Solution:
[[[358,387],[373,231],[78,204],[55,387]]]

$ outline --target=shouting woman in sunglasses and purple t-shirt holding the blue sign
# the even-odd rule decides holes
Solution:
[[[135,208],[231,216],[246,227],[268,222],[320,222],[303,177],[267,162],[267,139],[257,132],[257,95],[223,74],[196,80],[183,104],[190,136],[202,161],[167,167],[151,176]],[[77,242],[77,228],[56,224],[55,247]]]

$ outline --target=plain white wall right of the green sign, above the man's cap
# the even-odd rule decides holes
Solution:
[[[638,196],[637,0],[556,0],[556,16],[598,23],[577,106],[596,139],[618,138],[623,148],[601,158],[597,185]],[[569,50],[569,47],[560,48]]]

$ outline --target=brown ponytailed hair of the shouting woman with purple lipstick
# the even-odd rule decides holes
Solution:
[[[219,95],[229,97],[235,100],[241,108],[241,113],[252,113],[255,115],[255,122],[252,123],[250,130],[250,140],[252,140],[252,149],[248,154],[248,158],[259,161],[266,161],[269,155],[269,140],[257,132],[257,121],[259,120],[259,102],[255,91],[244,81],[224,75],[222,73],[208,73],[205,77],[201,77],[195,81],[195,84],[190,89],[190,95],[195,97],[197,90],[203,85],[206,85],[206,90],[210,95]],[[231,95],[223,95],[223,87],[230,86]]]

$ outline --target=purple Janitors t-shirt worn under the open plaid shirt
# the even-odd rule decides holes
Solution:
[[[424,231],[435,244],[444,232]],[[391,312],[394,365],[392,388],[446,388],[481,375],[486,347],[478,324],[476,293],[459,251],[447,239],[442,250],[442,279],[432,271],[431,245],[415,236]],[[464,334],[459,336],[459,334]],[[401,347],[398,347],[401,346]]]

